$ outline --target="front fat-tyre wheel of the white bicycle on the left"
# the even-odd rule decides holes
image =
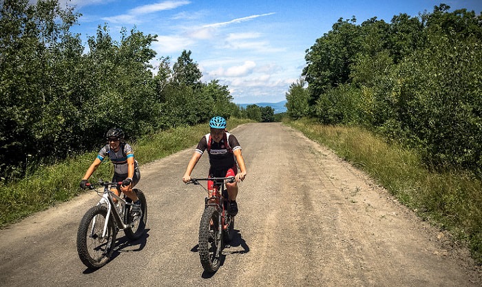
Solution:
[[[88,268],[101,268],[109,262],[116,242],[116,226],[109,220],[103,237],[107,208],[94,206],[82,217],[77,230],[77,253]]]

